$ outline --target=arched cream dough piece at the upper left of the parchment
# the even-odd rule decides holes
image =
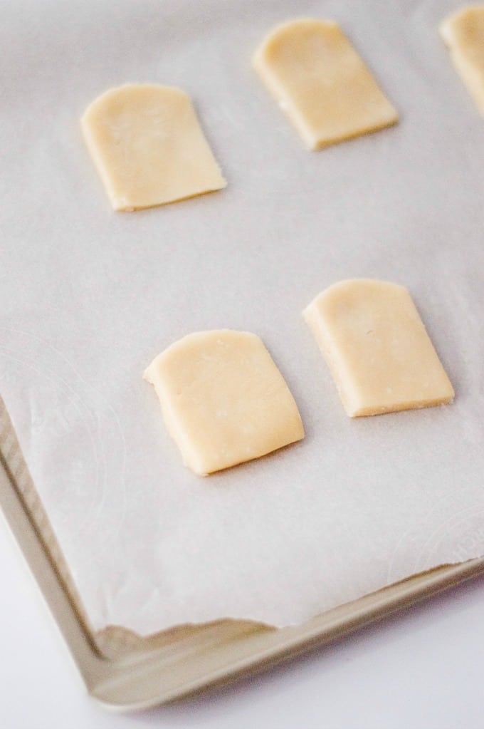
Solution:
[[[226,186],[189,95],[154,84],[111,89],[87,107],[84,139],[115,210]]]

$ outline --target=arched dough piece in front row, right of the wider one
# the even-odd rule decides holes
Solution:
[[[405,286],[368,278],[341,281],[317,296],[303,316],[350,417],[453,399],[453,387]]]

